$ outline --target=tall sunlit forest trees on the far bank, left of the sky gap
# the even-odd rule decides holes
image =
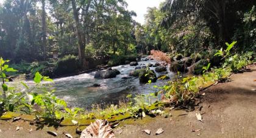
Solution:
[[[0,55],[20,63],[44,61],[56,54],[84,60],[134,53],[132,16],[136,14],[126,7],[125,1],[117,0],[6,0],[0,5]]]

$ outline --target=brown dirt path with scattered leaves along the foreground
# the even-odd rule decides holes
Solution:
[[[127,123],[126,120],[114,132],[116,137],[256,137],[256,67],[251,71],[233,74],[231,81],[217,84],[207,90],[201,104],[189,113],[171,110],[171,117],[155,117]],[[255,89],[255,90],[254,90]],[[199,111],[201,107],[201,111]],[[196,113],[202,114],[202,122],[196,119]],[[19,126],[20,130],[15,131]],[[65,133],[75,134],[74,128],[64,129],[30,125],[19,120],[7,122],[0,120],[0,137],[52,137],[46,133],[52,130],[58,137]],[[164,132],[155,136],[155,131]],[[30,131],[32,129],[32,131]],[[151,135],[143,132],[151,130]],[[193,132],[192,130],[196,130]]]

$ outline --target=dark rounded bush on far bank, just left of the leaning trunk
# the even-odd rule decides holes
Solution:
[[[68,55],[59,59],[54,69],[54,74],[57,76],[63,74],[74,73],[80,69],[79,60],[76,56]]]

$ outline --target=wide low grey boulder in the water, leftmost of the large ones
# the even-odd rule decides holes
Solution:
[[[105,70],[105,71],[97,71],[94,75],[94,78],[97,79],[108,79],[116,77],[116,75],[120,74],[118,70]]]

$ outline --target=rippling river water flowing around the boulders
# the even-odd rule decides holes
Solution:
[[[155,64],[156,61],[140,61],[138,65],[149,63]],[[90,108],[92,104],[118,104],[119,100],[126,99],[127,94],[152,93],[157,91],[153,88],[154,85],[166,84],[166,80],[157,80],[152,84],[140,84],[138,78],[129,77],[130,71],[135,70],[134,66],[119,65],[112,69],[119,70],[121,74],[112,79],[94,79],[96,72],[54,79],[55,95],[64,99],[68,105]],[[155,67],[151,67],[151,70],[155,70]],[[157,73],[158,75],[160,74]],[[168,76],[173,75],[168,68]],[[129,78],[123,79],[123,77]],[[101,87],[92,87],[93,84],[100,84]]]

